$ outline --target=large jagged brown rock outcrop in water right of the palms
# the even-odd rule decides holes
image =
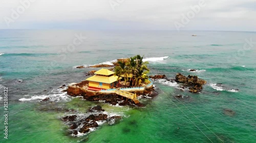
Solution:
[[[203,85],[207,83],[205,80],[198,78],[198,76],[196,75],[188,75],[186,77],[181,73],[176,74],[175,81],[179,83],[188,84],[189,86],[194,85],[194,87],[189,88],[189,91],[191,93],[198,93],[202,91]]]

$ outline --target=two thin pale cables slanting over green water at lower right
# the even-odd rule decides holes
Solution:
[[[165,87],[165,86],[164,86]],[[172,99],[170,99],[170,97],[160,88],[160,87],[158,87],[158,89],[160,89],[160,91],[162,91],[163,92],[163,94],[170,100],[170,101],[172,101]],[[168,90],[167,88],[164,88],[164,89],[166,89],[166,90]],[[169,91],[169,90],[168,90]],[[175,97],[175,96],[174,96]],[[175,97],[183,106],[185,106],[177,97]],[[172,101],[173,102],[173,101]],[[173,102],[174,103],[174,102]],[[206,136],[210,141],[211,141],[211,139],[178,107],[178,105],[177,104],[175,104],[174,103],[174,105],[184,114],[184,116],[191,122],[191,123],[193,123],[203,134],[204,134],[204,136]],[[186,107],[186,106],[185,106]],[[187,110],[189,110],[187,107],[186,107],[186,109]],[[191,112],[190,110],[189,110],[189,112]],[[198,117],[193,113],[193,112],[191,112],[197,119],[198,119]],[[198,119],[207,129],[209,129],[200,119]],[[211,129],[209,129],[210,131],[211,131]],[[212,131],[211,131],[212,132]],[[217,136],[214,132],[212,132],[217,138],[219,138],[220,139],[220,137],[219,136]],[[222,139],[220,139],[223,143],[224,143],[224,141],[222,140]],[[211,141],[212,142],[212,141]],[[212,142],[212,143],[214,143],[214,142]]]

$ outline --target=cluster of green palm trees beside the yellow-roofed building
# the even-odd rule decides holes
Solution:
[[[143,56],[138,54],[127,61],[118,61],[114,68],[115,75],[124,77],[124,81],[130,81],[132,86],[138,86],[147,82],[147,73],[150,72],[147,64],[148,62],[143,62]]]

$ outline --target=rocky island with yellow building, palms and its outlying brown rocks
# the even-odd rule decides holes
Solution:
[[[82,96],[87,101],[103,101],[111,105],[145,106],[137,99],[137,95],[152,98],[157,95],[153,87],[153,81],[165,79],[171,82],[181,83],[188,87],[191,93],[198,93],[202,90],[205,80],[194,75],[187,77],[177,73],[175,79],[168,79],[165,75],[147,76],[150,71],[147,62],[142,61],[143,56],[136,55],[130,59],[118,59],[112,65],[95,65],[95,67],[114,67],[113,69],[93,70],[86,75],[90,76],[79,83],[70,83],[67,92],[70,96]],[[79,66],[77,68],[84,68]],[[152,80],[153,81],[152,81]],[[182,86],[182,87],[183,87]],[[178,98],[183,98],[178,95]],[[121,116],[108,116],[100,106],[91,107],[88,111],[90,116],[79,117],[70,115],[61,118],[69,126],[70,134],[76,136],[78,133],[88,133],[91,128],[98,127],[99,122],[114,124],[122,120]],[[91,113],[90,113],[91,112]]]

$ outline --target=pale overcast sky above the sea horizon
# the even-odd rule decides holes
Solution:
[[[256,31],[256,0],[33,0],[20,13],[23,1],[0,1],[1,29]]]

